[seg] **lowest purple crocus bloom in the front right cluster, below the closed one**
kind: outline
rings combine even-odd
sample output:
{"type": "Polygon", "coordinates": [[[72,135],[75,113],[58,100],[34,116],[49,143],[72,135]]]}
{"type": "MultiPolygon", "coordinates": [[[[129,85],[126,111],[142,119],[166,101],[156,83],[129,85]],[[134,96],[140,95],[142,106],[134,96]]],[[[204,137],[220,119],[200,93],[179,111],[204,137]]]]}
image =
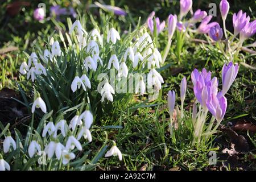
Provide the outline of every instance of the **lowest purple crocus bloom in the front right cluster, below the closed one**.
{"type": "Polygon", "coordinates": [[[207,101],[207,108],[218,123],[224,118],[227,106],[228,103],[225,96],[218,98],[216,94],[211,94],[209,101],[207,101]]]}

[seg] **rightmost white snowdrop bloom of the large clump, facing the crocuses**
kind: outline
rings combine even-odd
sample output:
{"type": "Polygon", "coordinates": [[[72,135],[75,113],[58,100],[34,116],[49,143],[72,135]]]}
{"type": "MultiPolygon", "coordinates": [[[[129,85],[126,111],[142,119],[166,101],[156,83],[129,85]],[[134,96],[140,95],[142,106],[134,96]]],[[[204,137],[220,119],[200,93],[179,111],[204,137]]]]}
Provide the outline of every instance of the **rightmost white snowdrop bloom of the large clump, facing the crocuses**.
{"type": "Polygon", "coordinates": [[[152,88],[152,86],[155,85],[156,90],[160,90],[163,82],[163,77],[155,70],[155,68],[151,69],[147,75],[148,88],[152,88]]]}

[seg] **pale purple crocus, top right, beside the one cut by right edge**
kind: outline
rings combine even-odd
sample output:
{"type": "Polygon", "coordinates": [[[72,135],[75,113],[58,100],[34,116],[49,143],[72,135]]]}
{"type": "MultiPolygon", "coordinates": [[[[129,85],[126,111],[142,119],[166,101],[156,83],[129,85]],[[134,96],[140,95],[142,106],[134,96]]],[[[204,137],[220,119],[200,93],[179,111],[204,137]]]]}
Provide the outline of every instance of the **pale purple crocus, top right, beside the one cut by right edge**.
{"type": "Polygon", "coordinates": [[[234,27],[234,36],[239,34],[239,32],[250,22],[250,16],[246,17],[246,13],[243,13],[242,10],[238,14],[233,15],[233,27],[234,27]]]}

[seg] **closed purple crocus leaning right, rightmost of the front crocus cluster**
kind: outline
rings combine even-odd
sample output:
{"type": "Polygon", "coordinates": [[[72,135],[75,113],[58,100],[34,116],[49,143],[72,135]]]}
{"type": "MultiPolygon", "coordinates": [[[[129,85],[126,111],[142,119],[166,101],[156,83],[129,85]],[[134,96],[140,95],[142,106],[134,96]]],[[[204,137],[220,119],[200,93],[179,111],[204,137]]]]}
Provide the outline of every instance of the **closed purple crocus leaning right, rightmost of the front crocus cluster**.
{"type": "Polygon", "coordinates": [[[222,68],[222,96],[225,96],[233,84],[234,79],[237,77],[238,68],[238,64],[233,64],[232,62],[228,65],[224,64],[222,68]]]}

